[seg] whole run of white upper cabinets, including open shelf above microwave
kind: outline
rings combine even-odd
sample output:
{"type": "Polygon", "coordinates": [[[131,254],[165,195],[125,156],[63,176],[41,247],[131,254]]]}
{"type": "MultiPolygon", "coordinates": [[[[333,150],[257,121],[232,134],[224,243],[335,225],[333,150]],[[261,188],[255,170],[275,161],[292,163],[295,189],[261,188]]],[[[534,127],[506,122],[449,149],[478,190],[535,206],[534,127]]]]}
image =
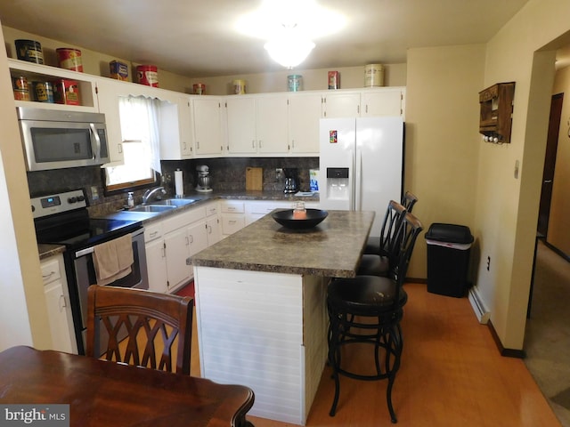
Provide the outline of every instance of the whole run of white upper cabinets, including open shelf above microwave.
{"type": "Polygon", "coordinates": [[[316,157],[322,117],[402,116],[405,119],[405,87],[199,96],[23,60],[9,59],[8,64],[12,77],[27,77],[28,82],[61,78],[77,81],[80,105],[14,102],[16,106],[105,114],[110,163],[104,166],[124,162],[118,114],[121,97],[145,96],[162,101],[160,157],[164,160],[316,157]]]}

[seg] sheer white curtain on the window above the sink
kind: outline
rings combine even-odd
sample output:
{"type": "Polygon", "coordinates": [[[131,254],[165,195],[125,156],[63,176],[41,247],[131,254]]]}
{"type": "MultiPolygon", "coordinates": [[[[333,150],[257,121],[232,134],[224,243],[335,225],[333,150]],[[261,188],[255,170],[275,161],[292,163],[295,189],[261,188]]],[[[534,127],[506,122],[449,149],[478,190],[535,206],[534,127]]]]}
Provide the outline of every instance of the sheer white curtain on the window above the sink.
{"type": "Polygon", "coordinates": [[[119,98],[119,114],[123,142],[142,141],[149,167],[162,173],[160,167],[160,101],[142,96],[119,98]]]}

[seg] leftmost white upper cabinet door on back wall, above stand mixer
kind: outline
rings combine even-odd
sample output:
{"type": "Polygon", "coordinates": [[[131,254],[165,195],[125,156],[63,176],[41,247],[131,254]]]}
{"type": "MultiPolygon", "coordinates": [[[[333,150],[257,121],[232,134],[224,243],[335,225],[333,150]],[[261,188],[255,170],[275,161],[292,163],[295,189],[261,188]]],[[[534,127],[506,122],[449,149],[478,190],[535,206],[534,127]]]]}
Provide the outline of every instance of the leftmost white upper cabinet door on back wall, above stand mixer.
{"type": "Polygon", "coordinates": [[[212,157],[222,154],[224,149],[222,100],[216,96],[192,98],[195,157],[212,157]]]}

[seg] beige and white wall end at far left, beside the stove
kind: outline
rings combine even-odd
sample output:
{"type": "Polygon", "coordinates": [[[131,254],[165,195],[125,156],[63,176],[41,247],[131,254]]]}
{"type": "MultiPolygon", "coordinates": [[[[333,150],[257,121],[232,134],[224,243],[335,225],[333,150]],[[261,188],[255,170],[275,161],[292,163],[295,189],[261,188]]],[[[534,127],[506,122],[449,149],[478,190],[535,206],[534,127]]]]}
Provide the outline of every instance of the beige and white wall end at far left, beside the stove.
{"type": "Polygon", "coordinates": [[[52,336],[4,51],[0,52],[0,100],[0,197],[4,200],[0,209],[0,350],[21,344],[46,349],[52,345],[52,336]]]}

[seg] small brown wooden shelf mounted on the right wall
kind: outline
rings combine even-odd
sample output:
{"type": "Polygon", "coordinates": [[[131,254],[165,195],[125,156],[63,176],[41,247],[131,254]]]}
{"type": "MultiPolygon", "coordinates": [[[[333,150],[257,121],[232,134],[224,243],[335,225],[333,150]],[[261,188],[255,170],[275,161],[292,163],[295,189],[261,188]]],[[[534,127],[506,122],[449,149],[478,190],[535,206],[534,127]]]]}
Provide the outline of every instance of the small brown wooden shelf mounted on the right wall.
{"type": "Polygon", "coordinates": [[[479,93],[479,133],[485,135],[485,141],[510,142],[514,97],[515,82],[497,83],[479,93]]]}

